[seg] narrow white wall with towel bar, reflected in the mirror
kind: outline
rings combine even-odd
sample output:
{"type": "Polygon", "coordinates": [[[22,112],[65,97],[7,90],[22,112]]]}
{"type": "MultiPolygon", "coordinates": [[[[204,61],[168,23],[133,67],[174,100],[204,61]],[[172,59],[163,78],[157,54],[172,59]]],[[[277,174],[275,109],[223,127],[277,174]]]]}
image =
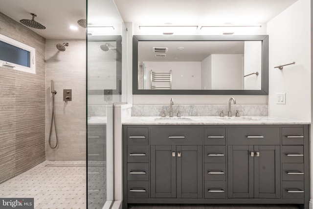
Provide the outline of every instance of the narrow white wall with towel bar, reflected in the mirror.
{"type": "Polygon", "coordinates": [[[244,75],[258,72],[245,77],[244,89],[259,90],[262,88],[262,42],[245,42],[244,75]]]}

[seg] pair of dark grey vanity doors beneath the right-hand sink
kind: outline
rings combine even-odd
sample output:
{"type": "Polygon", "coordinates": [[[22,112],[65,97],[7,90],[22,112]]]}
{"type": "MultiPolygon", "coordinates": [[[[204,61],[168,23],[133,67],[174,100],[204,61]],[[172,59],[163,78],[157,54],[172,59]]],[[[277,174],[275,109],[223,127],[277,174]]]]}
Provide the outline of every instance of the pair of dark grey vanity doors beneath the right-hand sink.
{"type": "Polygon", "coordinates": [[[280,198],[280,146],[228,146],[228,198],[280,198]]]}

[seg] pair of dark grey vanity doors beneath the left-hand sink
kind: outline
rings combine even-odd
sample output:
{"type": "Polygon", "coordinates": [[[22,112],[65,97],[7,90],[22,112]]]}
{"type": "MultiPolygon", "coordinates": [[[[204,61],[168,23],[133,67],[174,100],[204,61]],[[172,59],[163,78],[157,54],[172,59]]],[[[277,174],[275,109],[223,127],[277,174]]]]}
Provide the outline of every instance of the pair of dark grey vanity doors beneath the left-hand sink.
{"type": "Polygon", "coordinates": [[[202,146],[151,146],[151,198],[202,198],[202,146]]]}

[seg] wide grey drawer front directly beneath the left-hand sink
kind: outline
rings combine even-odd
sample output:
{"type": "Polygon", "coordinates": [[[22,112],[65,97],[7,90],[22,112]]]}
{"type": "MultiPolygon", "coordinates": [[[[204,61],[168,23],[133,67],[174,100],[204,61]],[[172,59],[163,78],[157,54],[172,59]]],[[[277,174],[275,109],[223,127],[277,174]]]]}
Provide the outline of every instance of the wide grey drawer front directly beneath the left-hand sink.
{"type": "Polygon", "coordinates": [[[202,145],[202,128],[151,128],[151,145],[202,145]]]}

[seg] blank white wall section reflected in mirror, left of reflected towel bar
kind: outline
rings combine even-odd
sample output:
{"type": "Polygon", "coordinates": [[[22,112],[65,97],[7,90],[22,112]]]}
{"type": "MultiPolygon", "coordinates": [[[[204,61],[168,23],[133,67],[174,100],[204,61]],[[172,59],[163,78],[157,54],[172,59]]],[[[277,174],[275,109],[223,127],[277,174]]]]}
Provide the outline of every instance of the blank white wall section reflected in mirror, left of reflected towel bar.
{"type": "Polygon", "coordinates": [[[213,90],[243,89],[243,54],[212,54],[211,83],[213,90]]]}

